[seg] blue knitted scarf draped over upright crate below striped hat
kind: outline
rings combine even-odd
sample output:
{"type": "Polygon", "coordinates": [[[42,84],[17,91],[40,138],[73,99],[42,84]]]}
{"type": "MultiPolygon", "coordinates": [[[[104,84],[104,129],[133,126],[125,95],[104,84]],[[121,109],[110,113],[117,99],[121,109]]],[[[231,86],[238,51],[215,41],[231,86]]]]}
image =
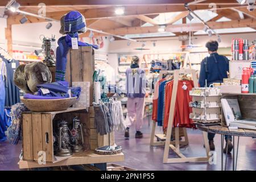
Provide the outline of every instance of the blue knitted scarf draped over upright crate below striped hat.
{"type": "MultiPolygon", "coordinates": [[[[71,38],[79,38],[78,33],[67,34],[58,40],[59,47],[56,49],[56,75],[55,81],[64,81],[67,67],[67,54],[69,48],[72,47],[71,38]]],[[[94,49],[98,49],[95,44],[88,44],[78,41],[79,46],[92,46],[94,49]]]]}

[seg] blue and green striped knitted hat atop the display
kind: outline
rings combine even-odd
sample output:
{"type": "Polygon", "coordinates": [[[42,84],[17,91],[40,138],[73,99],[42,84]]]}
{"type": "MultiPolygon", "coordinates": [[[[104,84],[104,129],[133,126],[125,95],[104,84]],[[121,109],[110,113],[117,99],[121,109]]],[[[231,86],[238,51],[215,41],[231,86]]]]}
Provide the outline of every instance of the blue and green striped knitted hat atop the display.
{"type": "Polygon", "coordinates": [[[79,11],[70,11],[64,17],[64,33],[86,32],[85,18],[79,11]]]}

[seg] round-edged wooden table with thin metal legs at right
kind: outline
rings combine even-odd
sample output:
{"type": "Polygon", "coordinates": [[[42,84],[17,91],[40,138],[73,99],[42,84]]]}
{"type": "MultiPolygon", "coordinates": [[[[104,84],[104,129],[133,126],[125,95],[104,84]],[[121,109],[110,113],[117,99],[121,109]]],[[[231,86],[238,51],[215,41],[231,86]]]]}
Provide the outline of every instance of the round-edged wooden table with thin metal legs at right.
{"type": "MultiPolygon", "coordinates": [[[[221,170],[222,171],[224,169],[224,167],[223,167],[224,135],[233,136],[233,171],[235,171],[237,169],[237,158],[238,158],[238,148],[239,148],[240,137],[256,137],[256,130],[246,130],[246,129],[229,130],[229,128],[225,127],[225,126],[200,126],[200,125],[197,125],[197,128],[201,131],[221,135],[221,170]],[[235,149],[234,137],[238,137],[236,149],[235,149]],[[236,152],[236,155],[235,155],[235,152],[236,152]],[[236,162],[235,162],[235,158],[236,158],[236,162]]],[[[228,152],[228,150],[227,150],[227,152],[228,152]]],[[[226,153],[226,154],[228,154],[228,153],[226,153]]],[[[228,156],[226,155],[225,171],[226,171],[227,159],[228,159],[228,156]]]]}

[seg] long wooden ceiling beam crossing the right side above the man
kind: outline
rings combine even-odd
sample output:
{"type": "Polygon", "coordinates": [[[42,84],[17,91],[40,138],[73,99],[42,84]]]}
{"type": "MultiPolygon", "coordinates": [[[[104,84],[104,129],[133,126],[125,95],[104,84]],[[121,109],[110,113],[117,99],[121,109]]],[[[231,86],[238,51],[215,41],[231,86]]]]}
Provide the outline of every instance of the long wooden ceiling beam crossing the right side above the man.
{"type": "MultiPolygon", "coordinates": [[[[240,28],[251,27],[256,28],[255,19],[243,19],[243,20],[231,20],[229,22],[208,22],[209,26],[213,29],[220,28],[240,28]]],[[[187,31],[199,31],[203,30],[203,23],[191,23],[191,24],[171,24],[166,27],[166,31],[169,32],[187,32],[187,31]]],[[[158,32],[158,26],[151,27],[123,27],[114,29],[102,30],[114,35],[127,35],[127,34],[146,34],[158,32]]]]}

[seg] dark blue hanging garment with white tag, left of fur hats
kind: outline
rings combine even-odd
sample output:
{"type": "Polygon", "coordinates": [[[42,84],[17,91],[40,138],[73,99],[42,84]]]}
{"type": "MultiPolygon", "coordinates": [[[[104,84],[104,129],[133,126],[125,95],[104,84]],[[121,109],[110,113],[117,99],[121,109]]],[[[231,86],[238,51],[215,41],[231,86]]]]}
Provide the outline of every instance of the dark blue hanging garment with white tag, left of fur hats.
{"type": "MultiPolygon", "coordinates": [[[[1,56],[0,56],[1,57],[1,56]]],[[[13,75],[15,68],[18,67],[19,61],[17,60],[6,60],[5,57],[2,57],[5,61],[7,69],[7,79],[6,79],[6,88],[5,88],[5,106],[11,107],[12,105],[20,102],[19,88],[14,85],[13,75]]]]}

